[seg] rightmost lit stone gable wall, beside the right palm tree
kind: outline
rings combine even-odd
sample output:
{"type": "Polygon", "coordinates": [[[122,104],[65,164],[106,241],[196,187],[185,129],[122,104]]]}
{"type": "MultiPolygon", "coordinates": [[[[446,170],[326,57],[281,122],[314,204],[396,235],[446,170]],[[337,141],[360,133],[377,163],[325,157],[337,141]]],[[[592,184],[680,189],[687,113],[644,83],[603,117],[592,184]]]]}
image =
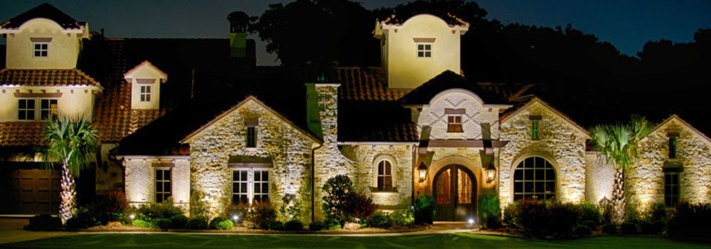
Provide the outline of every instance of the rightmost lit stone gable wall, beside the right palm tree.
{"type": "Polygon", "coordinates": [[[680,200],[690,203],[711,202],[711,146],[710,142],[693,131],[678,117],[663,122],[639,146],[639,165],[627,175],[631,203],[640,211],[651,203],[664,203],[664,172],[667,161],[681,164],[680,200]],[[668,132],[679,132],[677,159],[669,159],[668,132]]]}

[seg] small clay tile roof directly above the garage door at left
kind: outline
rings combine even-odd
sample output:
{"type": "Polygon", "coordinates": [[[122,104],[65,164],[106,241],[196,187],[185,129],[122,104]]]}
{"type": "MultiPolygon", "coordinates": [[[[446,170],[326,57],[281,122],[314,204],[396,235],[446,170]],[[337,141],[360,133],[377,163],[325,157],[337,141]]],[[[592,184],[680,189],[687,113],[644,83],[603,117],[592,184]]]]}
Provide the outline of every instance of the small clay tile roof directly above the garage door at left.
{"type": "Polygon", "coordinates": [[[44,122],[0,123],[0,147],[43,145],[44,122]]]}

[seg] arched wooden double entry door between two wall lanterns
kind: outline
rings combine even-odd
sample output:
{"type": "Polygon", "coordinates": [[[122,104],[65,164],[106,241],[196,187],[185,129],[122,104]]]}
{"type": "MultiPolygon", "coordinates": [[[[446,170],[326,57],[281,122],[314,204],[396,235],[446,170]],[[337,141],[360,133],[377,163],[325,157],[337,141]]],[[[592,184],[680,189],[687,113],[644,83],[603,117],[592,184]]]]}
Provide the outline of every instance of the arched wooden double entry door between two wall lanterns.
{"type": "Polygon", "coordinates": [[[450,164],[434,176],[437,221],[467,221],[476,216],[476,177],[465,166],[450,164]]]}

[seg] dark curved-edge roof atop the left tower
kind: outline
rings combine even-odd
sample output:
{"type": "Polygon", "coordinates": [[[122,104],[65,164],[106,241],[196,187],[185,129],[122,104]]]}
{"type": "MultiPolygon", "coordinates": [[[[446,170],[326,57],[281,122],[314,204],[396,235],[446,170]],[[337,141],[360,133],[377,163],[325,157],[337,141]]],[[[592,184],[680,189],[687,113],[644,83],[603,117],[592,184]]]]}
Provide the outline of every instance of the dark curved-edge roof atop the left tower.
{"type": "Polygon", "coordinates": [[[10,18],[10,20],[8,21],[4,21],[2,24],[0,24],[0,28],[19,28],[20,26],[22,26],[23,23],[33,18],[48,18],[58,23],[59,26],[62,26],[62,28],[64,29],[79,29],[82,28],[82,26],[84,26],[85,24],[83,22],[75,20],[71,16],[55,8],[55,6],[52,6],[52,4],[44,3],[26,11],[23,14],[19,14],[18,16],[10,18]]]}

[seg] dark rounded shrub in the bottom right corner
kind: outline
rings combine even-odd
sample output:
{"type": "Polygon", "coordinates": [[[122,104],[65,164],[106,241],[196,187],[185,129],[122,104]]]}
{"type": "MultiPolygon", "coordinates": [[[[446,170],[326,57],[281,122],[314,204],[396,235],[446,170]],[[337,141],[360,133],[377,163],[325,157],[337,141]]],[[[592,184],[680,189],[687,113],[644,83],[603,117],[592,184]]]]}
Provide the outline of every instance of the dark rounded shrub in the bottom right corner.
{"type": "Polygon", "coordinates": [[[707,238],[711,233],[711,204],[678,203],[667,233],[678,238],[707,238]]]}

